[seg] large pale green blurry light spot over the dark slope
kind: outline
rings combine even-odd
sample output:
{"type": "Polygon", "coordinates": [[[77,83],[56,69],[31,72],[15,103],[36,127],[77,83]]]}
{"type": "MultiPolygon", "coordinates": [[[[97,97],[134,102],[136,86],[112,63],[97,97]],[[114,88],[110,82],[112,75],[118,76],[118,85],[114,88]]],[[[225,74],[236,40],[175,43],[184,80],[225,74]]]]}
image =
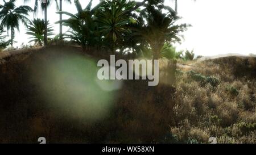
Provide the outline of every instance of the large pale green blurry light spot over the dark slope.
{"type": "Polygon", "coordinates": [[[96,62],[81,55],[68,54],[46,61],[43,70],[34,71],[40,73],[33,73],[37,75],[33,80],[42,89],[40,95],[49,107],[69,118],[88,121],[108,115],[117,95],[114,90],[121,87],[121,81],[98,80],[96,62]]]}

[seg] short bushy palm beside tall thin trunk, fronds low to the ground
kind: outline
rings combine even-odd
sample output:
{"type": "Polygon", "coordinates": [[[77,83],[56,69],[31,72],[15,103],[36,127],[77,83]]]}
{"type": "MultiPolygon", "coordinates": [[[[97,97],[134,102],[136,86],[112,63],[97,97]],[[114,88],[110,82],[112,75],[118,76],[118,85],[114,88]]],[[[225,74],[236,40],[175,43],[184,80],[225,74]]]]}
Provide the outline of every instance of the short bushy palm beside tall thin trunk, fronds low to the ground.
{"type": "MultiPolygon", "coordinates": [[[[53,29],[52,27],[49,27],[49,21],[47,22],[48,25],[48,30],[47,30],[47,35],[51,36],[53,35],[53,29]]],[[[27,35],[31,35],[32,37],[30,37],[30,41],[28,43],[31,42],[35,42],[38,43],[40,46],[42,46],[42,42],[44,39],[44,19],[34,19],[31,23],[31,25],[27,26],[28,30],[26,32],[27,35]]]]}

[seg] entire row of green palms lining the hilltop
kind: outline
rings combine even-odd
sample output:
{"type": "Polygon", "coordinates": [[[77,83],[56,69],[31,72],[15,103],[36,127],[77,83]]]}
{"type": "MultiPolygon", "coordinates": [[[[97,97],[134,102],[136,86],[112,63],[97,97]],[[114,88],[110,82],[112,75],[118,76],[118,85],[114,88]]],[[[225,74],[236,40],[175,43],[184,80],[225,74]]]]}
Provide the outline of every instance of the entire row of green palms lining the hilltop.
{"type": "MultiPolygon", "coordinates": [[[[24,0],[26,2],[28,0],[24,0]]],[[[15,30],[20,24],[27,27],[31,41],[38,45],[47,45],[53,35],[53,27],[47,20],[47,7],[56,5],[56,13],[60,20],[60,32],[55,39],[68,40],[80,45],[85,52],[106,51],[115,54],[134,53],[153,58],[179,57],[174,53],[172,45],[182,40],[181,32],[186,31],[189,24],[177,24],[180,16],[164,0],[144,0],[142,2],[126,0],[102,0],[92,7],[93,0],[87,6],[81,6],[79,0],[66,1],[66,5],[75,5],[76,14],[63,11],[63,2],[35,0],[34,9],[30,6],[16,6],[16,0],[5,1],[0,5],[0,47],[13,46],[15,30]],[[38,8],[42,7],[44,19],[36,19],[38,8]],[[34,11],[34,19],[28,14],[34,11]],[[63,19],[62,15],[68,15],[63,19]],[[62,27],[69,30],[63,33],[62,27]],[[11,33],[6,40],[6,32],[11,33]]]]}

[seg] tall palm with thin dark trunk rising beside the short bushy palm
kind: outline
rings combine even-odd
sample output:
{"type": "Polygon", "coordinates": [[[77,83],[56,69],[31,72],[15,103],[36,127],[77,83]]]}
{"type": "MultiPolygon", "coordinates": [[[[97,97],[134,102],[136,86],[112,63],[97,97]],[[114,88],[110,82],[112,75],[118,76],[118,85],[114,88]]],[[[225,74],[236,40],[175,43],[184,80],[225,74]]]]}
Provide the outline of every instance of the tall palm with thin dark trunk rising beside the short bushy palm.
{"type": "MultiPolygon", "coordinates": [[[[27,1],[30,1],[30,0],[24,0],[24,2],[27,2],[27,1]]],[[[54,1],[56,3],[56,9],[59,9],[57,0],[54,0],[54,1]]],[[[47,45],[47,41],[48,41],[48,39],[47,39],[48,38],[47,37],[47,30],[48,30],[48,28],[47,28],[47,21],[48,21],[47,20],[47,7],[49,5],[51,5],[51,2],[52,2],[52,0],[35,0],[35,5],[34,5],[34,16],[38,12],[39,3],[44,12],[44,27],[45,27],[44,30],[46,30],[46,31],[44,31],[44,45],[47,45]]]]}

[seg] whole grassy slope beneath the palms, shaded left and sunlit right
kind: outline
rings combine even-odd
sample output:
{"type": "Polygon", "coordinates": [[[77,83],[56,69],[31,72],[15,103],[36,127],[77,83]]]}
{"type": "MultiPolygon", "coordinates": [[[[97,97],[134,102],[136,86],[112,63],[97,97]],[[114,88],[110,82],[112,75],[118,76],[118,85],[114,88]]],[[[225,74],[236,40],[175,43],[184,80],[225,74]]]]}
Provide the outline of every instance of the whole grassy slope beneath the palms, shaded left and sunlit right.
{"type": "Polygon", "coordinates": [[[162,59],[158,86],[123,81],[116,90],[102,90],[86,82],[82,87],[90,89],[88,96],[70,83],[77,75],[90,79],[93,66],[84,59],[100,57],[78,49],[53,46],[5,58],[0,66],[2,143],[35,143],[42,135],[49,143],[208,143],[211,136],[218,143],[255,143],[255,58],[203,61],[190,72],[162,59]],[[62,61],[68,68],[61,67],[62,61]],[[49,78],[59,69],[57,78],[49,78]],[[114,95],[108,108],[103,100],[103,108],[92,107],[97,100],[88,98],[106,93],[114,95]],[[77,110],[81,100],[88,107],[77,110]],[[90,119],[99,114],[106,115],[90,119]]]}

